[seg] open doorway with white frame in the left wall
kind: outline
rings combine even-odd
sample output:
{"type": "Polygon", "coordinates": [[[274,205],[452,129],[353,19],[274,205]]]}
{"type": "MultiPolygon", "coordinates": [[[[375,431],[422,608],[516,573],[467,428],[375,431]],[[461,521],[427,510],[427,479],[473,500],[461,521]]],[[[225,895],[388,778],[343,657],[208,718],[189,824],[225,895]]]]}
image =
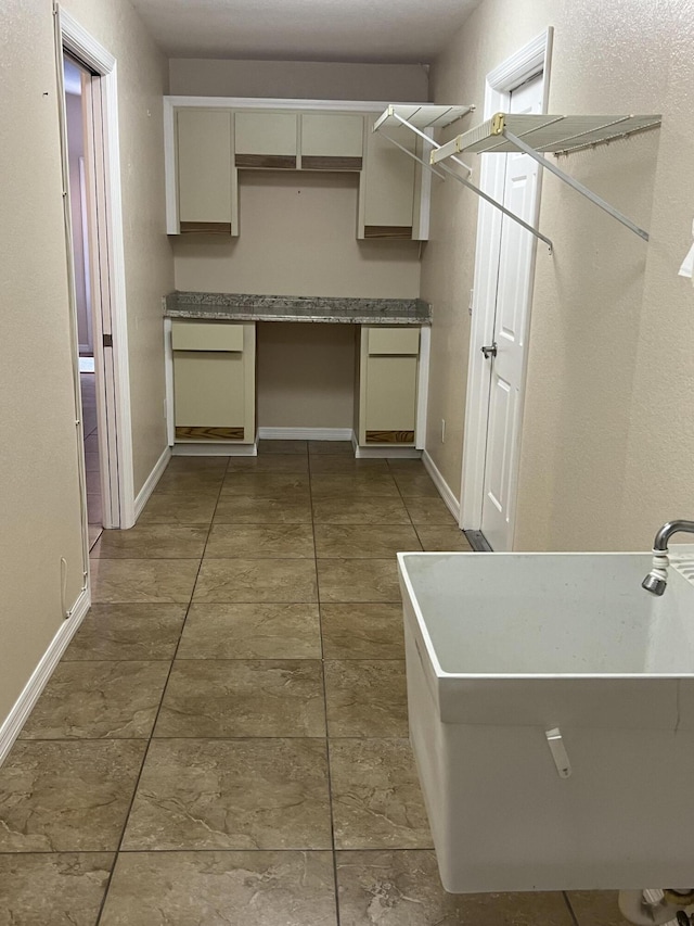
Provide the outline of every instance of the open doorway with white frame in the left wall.
{"type": "Polygon", "coordinates": [[[134,523],[116,61],[68,13],[54,10],[88,553],[103,528],[134,523]]]}

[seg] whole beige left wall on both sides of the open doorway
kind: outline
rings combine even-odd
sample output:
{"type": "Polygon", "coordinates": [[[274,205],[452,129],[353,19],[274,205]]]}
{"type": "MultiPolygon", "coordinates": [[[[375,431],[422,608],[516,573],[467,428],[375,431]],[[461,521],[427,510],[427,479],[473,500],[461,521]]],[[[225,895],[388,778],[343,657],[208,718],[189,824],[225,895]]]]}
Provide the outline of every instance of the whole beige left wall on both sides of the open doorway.
{"type": "MultiPolygon", "coordinates": [[[[166,62],[125,0],[66,5],[119,64],[139,487],[166,443],[159,305],[172,287],[162,178],[166,62]]],[[[62,625],[61,558],[67,561],[67,606],[82,585],[82,559],[50,3],[5,0],[0,33],[12,36],[3,48],[0,93],[1,722],[62,625]]]]}

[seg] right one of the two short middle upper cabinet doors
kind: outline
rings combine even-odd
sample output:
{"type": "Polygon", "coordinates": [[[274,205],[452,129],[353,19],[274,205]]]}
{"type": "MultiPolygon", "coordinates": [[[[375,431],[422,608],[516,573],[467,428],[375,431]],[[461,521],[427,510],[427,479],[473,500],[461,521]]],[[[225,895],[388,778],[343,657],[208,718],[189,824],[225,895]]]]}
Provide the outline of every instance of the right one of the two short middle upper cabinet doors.
{"type": "Polygon", "coordinates": [[[304,114],[301,169],[361,170],[363,138],[363,116],[304,114]]]}

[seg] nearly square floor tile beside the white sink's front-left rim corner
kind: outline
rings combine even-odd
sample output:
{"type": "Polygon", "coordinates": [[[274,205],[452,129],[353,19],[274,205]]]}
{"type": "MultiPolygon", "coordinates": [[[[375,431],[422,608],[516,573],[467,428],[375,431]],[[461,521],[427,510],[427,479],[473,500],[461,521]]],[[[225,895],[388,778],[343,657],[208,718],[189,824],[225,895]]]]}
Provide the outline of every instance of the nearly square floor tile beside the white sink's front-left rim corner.
{"type": "Polygon", "coordinates": [[[329,736],[408,736],[402,660],[329,659],[324,672],[329,736]]]}

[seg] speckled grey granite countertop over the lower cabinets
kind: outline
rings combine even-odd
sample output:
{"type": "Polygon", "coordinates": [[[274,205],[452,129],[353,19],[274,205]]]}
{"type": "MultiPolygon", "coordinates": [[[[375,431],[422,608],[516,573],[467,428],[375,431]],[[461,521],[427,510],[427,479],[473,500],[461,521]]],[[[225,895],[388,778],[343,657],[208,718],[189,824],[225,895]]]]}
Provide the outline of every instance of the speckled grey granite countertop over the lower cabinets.
{"type": "Polygon", "coordinates": [[[432,309],[421,299],[340,299],[244,293],[169,293],[169,318],[224,321],[329,321],[350,325],[430,325],[432,309]]]}

